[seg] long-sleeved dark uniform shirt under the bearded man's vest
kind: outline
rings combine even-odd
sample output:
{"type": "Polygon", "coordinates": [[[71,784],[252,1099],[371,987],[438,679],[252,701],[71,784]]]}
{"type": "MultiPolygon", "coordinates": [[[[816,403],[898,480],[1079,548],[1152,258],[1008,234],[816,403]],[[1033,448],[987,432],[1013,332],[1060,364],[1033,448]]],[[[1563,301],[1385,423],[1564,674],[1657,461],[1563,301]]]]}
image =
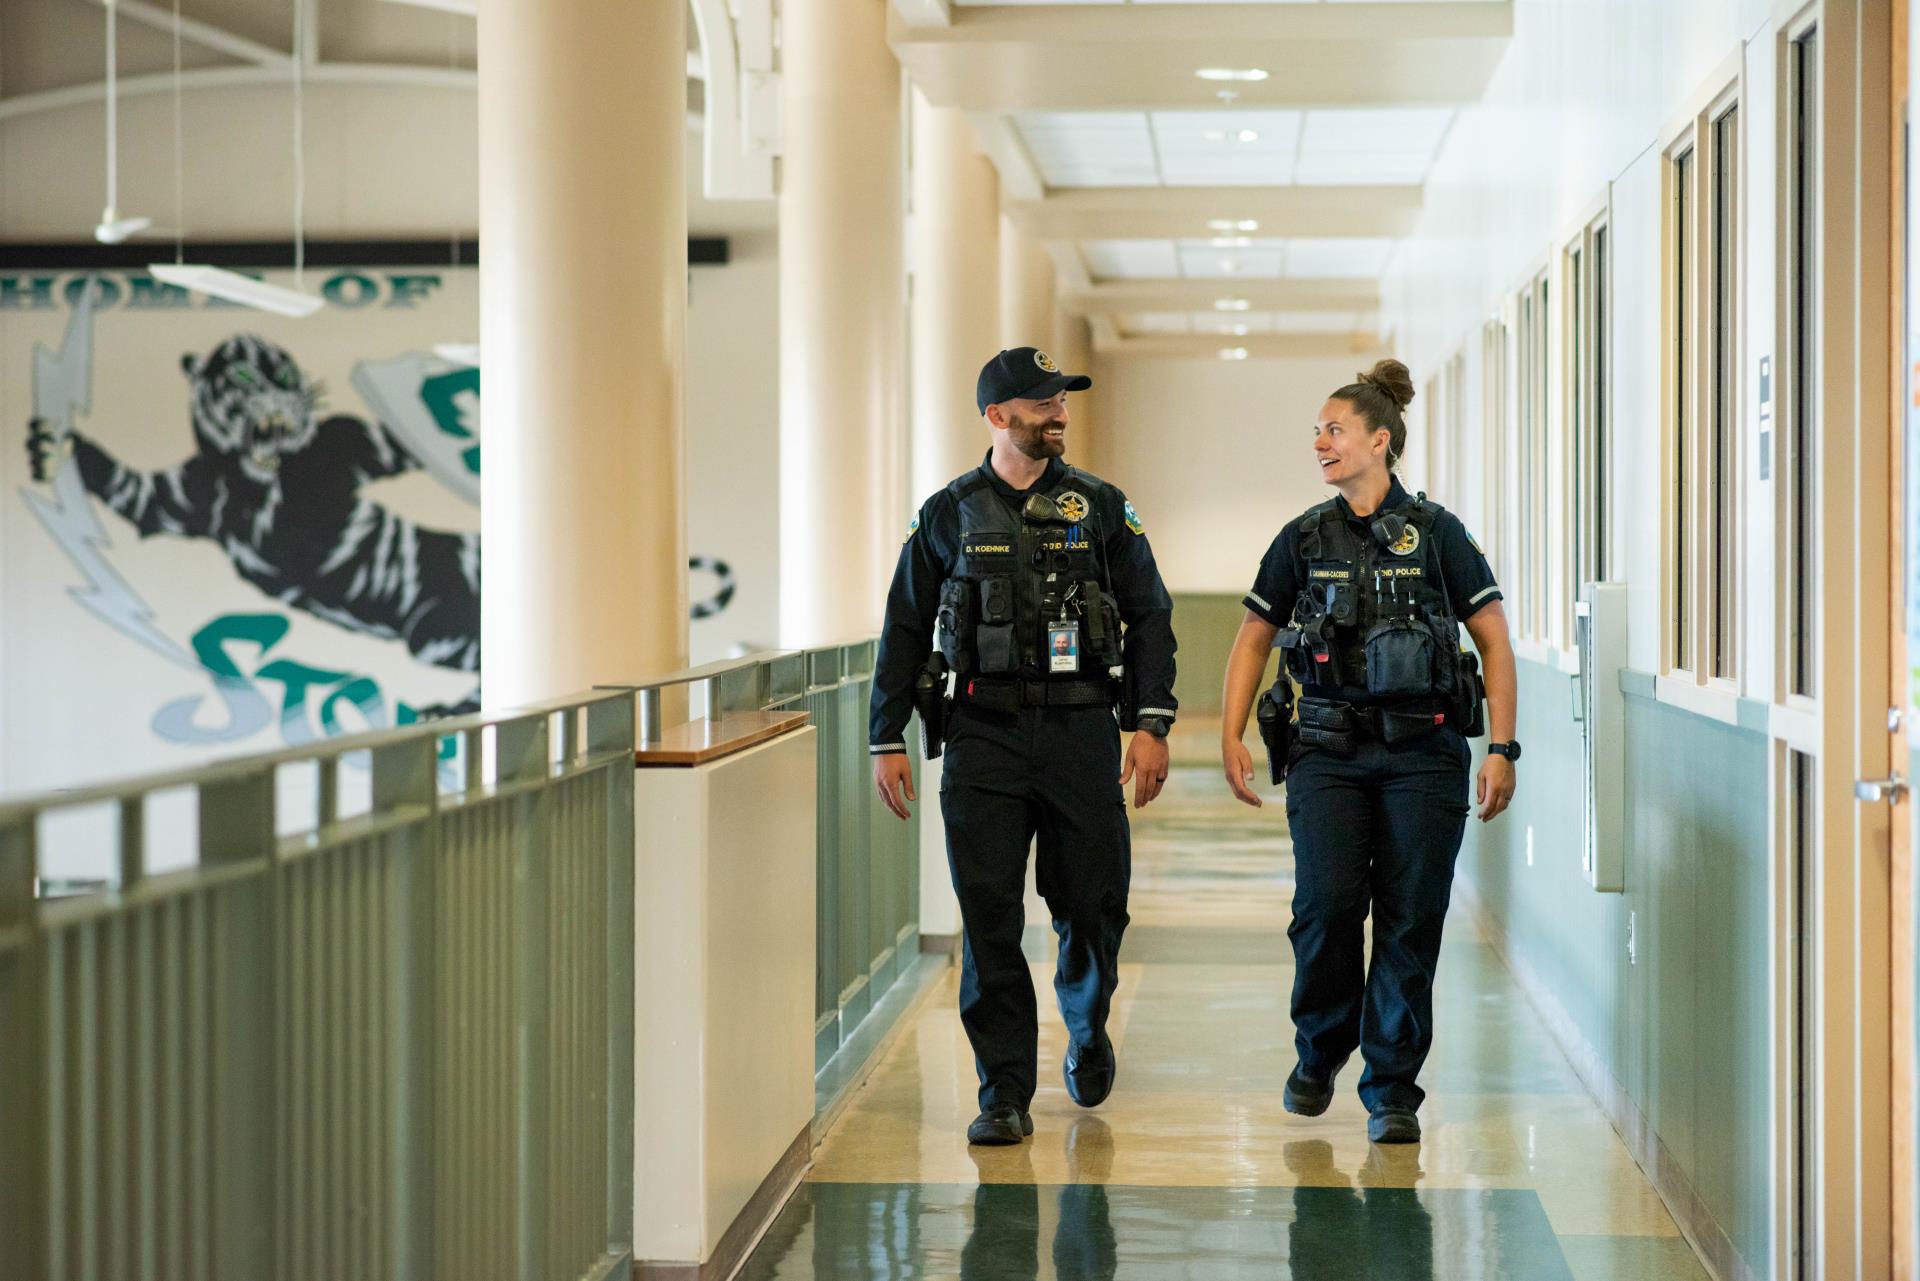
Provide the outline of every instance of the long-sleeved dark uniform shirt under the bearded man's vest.
{"type": "MultiPolygon", "coordinates": [[[[981,463],[993,492],[1012,511],[1020,511],[1027,494],[1052,492],[1060,484],[1066,463],[1048,459],[1046,471],[1031,490],[1016,490],[993,471],[993,453],[981,463]]],[[[1119,620],[1127,638],[1127,680],[1133,682],[1139,714],[1173,720],[1179,703],[1173,699],[1173,597],[1160,580],[1154,551],[1146,534],[1139,532],[1133,505],[1110,480],[1098,480],[1094,490],[1094,526],[1100,530],[1106,553],[1108,588],[1119,605],[1119,620]],[[1131,522],[1129,522],[1131,520],[1131,522]]],[[[960,503],[952,490],[941,488],[920,505],[900,561],[893,570],[893,590],[887,592],[887,616],[881,622],[879,655],[874,659],[874,697],[868,707],[868,751],[874,755],[906,751],[906,722],[914,711],[914,676],[933,653],[933,618],[941,605],[941,584],[954,561],[960,542],[960,503]]]]}

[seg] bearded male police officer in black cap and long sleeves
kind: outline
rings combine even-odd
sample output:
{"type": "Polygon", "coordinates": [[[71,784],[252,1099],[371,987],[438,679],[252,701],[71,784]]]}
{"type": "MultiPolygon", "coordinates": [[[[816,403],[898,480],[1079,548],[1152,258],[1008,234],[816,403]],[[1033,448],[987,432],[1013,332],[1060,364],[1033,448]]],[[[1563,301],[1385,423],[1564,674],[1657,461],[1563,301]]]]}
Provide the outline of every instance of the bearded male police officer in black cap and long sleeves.
{"type": "Polygon", "coordinates": [[[975,405],[993,449],[920,507],[874,672],[874,784],[900,818],[918,799],[904,741],[916,678],[922,718],[937,720],[945,701],[927,691],[954,672],[941,814],[966,930],[960,1022],[979,1072],[968,1143],[1033,1133],[1039,1035],[1020,933],[1035,835],[1035,878],[1060,935],[1066,1087],[1087,1108],[1114,1087],[1106,1016],[1133,862],[1125,786],[1140,807],[1167,778],[1173,601],[1133,503],[1060,461],[1066,394],[1089,386],[1033,348],[1000,351],[979,371],[975,405]],[[1116,699],[1121,728],[1137,730],[1125,766],[1116,699]]]}

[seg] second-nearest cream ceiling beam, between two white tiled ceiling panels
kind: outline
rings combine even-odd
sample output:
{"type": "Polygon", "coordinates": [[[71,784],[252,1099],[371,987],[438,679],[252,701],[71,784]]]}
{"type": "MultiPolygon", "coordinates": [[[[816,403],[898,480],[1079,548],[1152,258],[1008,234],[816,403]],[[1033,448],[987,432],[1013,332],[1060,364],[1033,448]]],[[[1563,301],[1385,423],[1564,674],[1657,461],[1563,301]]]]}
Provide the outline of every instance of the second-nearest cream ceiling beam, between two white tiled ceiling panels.
{"type": "MultiPolygon", "coordinates": [[[[1371,8],[1371,6],[1369,6],[1371,8]]],[[[1196,240],[1213,219],[1252,219],[1260,238],[1398,238],[1413,230],[1419,186],[1081,186],[1006,202],[1037,240],[1196,240]]]]}

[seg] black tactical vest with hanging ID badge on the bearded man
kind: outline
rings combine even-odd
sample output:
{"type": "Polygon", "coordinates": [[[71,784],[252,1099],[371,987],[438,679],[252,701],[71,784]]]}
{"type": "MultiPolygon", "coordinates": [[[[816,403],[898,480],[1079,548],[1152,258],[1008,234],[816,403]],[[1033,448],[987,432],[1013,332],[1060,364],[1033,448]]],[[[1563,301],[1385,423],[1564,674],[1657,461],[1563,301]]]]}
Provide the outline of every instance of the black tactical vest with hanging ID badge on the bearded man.
{"type": "Polygon", "coordinates": [[[952,670],[1104,680],[1119,666],[1119,603],[1094,511],[1102,488],[1068,467],[1016,511],[981,471],[947,486],[960,507],[939,609],[939,647],[952,670]]]}

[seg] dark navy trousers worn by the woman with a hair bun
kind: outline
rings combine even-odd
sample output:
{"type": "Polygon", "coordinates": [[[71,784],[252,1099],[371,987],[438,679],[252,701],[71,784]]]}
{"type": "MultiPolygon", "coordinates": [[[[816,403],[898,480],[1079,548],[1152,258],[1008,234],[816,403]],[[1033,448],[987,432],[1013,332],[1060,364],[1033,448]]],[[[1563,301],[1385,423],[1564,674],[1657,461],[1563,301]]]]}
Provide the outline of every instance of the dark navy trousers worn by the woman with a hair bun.
{"type": "Polygon", "coordinates": [[[1352,757],[1296,747],[1286,772],[1294,837],[1294,1047],[1325,1077],[1357,1047],[1359,1097],[1419,1108],[1434,1039],[1434,970],[1467,828],[1467,739],[1363,737],[1352,757]],[[1365,922],[1373,910],[1373,964],[1365,922]]]}

